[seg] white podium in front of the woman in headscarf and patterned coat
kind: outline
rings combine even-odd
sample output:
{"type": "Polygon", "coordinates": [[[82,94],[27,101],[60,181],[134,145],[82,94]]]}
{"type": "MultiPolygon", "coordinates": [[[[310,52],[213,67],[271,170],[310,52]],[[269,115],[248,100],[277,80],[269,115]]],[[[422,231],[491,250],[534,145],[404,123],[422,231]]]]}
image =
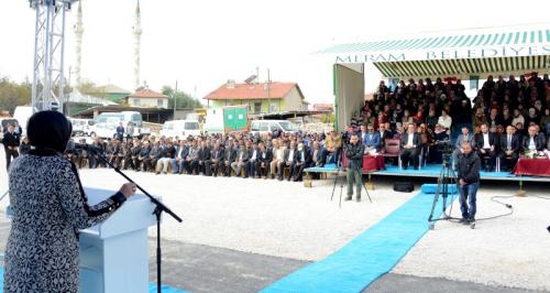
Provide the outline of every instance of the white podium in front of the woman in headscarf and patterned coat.
{"type": "MultiPolygon", "coordinates": [[[[90,205],[113,194],[86,188],[90,205]]],[[[156,225],[154,208],[148,197],[136,194],[105,223],[80,231],[79,292],[148,292],[147,227],[156,225]]]]}

